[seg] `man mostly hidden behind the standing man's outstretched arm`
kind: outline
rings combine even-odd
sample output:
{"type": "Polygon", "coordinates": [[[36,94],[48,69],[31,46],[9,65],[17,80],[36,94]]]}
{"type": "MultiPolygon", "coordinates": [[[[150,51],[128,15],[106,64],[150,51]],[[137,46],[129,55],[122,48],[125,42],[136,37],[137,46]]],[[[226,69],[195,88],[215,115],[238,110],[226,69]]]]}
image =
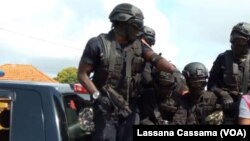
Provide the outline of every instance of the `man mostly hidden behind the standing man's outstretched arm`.
{"type": "MultiPolygon", "coordinates": [[[[144,26],[142,40],[144,40],[147,46],[152,48],[155,44],[154,29],[144,26]]],[[[139,84],[140,98],[138,100],[138,106],[140,111],[140,124],[142,125],[154,125],[156,123],[154,113],[157,110],[157,103],[152,77],[153,67],[151,63],[146,63],[139,84]]]]}

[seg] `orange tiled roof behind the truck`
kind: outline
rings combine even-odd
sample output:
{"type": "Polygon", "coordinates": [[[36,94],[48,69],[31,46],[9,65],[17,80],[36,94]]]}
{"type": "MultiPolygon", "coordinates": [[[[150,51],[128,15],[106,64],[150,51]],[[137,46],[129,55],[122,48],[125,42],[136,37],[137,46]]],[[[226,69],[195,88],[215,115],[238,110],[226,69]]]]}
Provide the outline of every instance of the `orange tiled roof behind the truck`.
{"type": "Polygon", "coordinates": [[[0,66],[0,70],[4,71],[5,74],[3,77],[0,77],[0,80],[58,83],[56,80],[29,64],[5,64],[0,66]]]}

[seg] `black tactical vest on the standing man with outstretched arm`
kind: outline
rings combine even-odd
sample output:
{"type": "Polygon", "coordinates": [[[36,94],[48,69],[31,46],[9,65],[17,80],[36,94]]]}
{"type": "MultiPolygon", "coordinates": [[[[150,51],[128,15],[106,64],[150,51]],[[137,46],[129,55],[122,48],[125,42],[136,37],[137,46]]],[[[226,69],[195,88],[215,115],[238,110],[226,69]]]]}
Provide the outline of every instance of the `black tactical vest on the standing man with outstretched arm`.
{"type": "MultiPolygon", "coordinates": [[[[139,40],[122,48],[112,32],[97,37],[101,47],[101,61],[95,68],[93,82],[98,89],[109,84],[119,94],[132,98],[136,95],[139,77],[145,63],[142,58],[142,45],[139,40]]],[[[125,97],[126,98],[126,97],[125,97]]]]}

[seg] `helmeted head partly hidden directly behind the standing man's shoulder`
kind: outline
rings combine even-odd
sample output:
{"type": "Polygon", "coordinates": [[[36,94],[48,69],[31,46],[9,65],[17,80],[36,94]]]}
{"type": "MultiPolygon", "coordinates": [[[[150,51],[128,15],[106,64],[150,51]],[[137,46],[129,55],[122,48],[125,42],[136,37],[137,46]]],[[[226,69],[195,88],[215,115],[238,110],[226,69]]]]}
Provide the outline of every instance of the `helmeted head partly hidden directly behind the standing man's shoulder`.
{"type": "Polygon", "coordinates": [[[144,26],[143,28],[144,39],[152,46],[155,44],[155,31],[154,29],[144,26]]]}

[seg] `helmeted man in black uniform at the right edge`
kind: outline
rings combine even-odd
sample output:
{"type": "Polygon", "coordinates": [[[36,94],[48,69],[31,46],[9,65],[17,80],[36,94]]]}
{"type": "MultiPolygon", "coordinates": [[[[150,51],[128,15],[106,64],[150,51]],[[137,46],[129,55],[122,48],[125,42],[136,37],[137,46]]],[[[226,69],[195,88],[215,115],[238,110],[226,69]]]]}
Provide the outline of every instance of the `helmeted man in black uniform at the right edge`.
{"type": "Polygon", "coordinates": [[[223,103],[224,124],[236,124],[241,95],[249,90],[250,24],[240,22],[231,32],[231,50],[218,55],[208,79],[208,89],[223,103]]]}

